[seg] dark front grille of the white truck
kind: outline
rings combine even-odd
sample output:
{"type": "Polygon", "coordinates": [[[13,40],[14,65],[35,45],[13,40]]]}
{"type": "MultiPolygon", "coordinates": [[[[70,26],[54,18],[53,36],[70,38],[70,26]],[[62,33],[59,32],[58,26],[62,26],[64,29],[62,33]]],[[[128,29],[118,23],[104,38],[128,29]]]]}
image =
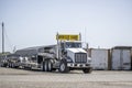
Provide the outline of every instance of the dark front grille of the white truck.
{"type": "Polygon", "coordinates": [[[75,63],[87,63],[87,54],[86,53],[76,53],[75,54],[75,63]]]}

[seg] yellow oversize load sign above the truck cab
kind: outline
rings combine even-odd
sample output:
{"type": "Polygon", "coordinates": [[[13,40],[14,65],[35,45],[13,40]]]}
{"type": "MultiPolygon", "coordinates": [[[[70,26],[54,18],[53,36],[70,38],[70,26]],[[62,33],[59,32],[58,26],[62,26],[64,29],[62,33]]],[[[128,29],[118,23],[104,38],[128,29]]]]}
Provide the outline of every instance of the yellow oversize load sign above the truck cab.
{"type": "Polygon", "coordinates": [[[56,35],[56,40],[65,40],[65,41],[78,41],[79,40],[79,35],[56,35]]]}

